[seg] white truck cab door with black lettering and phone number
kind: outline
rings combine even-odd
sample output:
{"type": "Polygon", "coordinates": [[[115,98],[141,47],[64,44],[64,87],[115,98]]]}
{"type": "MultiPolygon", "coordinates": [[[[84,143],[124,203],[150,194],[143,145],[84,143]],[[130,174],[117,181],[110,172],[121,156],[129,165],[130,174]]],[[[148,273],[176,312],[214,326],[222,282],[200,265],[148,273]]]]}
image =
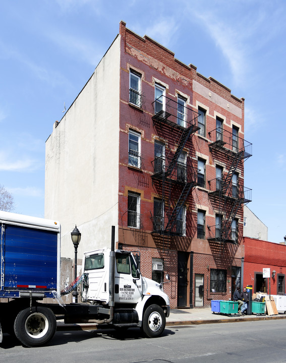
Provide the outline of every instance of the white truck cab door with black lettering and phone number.
{"type": "Polygon", "coordinates": [[[133,256],[128,252],[116,253],[115,302],[137,304],[142,296],[142,276],[133,256]]]}

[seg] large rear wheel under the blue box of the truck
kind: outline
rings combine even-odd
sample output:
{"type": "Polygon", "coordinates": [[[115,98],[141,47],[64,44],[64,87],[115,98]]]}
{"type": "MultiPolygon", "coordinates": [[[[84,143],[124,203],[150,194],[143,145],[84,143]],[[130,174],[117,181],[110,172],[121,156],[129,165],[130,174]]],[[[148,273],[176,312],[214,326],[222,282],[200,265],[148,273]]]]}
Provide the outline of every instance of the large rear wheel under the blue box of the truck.
{"type": "Polygon", "coordinates": [[[52,339],[56,330],[56,319],[48,308],[27,308],[17,315],[14,331],[20,342],[27,347],[44,345],[52,339]]]}

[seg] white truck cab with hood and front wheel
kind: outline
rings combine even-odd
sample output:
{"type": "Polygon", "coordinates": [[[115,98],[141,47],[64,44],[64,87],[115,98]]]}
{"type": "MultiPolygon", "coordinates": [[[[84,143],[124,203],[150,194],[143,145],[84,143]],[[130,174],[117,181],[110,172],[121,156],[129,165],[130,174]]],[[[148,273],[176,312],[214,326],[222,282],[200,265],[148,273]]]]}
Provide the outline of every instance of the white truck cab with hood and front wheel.
{"type": "Polygon", "coordinates": [[[110,284],[114,283],[115,311],[131,314],[124,324],[121,317],[113,325],[140,326],[149,337],[158,336],[164,330],[165,318],[169,316],[169,298],[163,285],[141,275],[138,262],[129,251],[115,251],[114,282],[110,279],[110,249],[86,252],[83,256],[82,297],[92,304],[110,305],[110,284]],[[151,307],[151,308],[150,308],[151,307]],[[132,313],[131,313],[132,312],[132,313]],[[147,313],[146,313],[147,312],[147,313]],[[146,315],[147,314],[147,315],[146,315]],[[134,322],[137,323],[134,324],[134,322]],[[132,324],[129,324],[131,323],[132,324]]]}

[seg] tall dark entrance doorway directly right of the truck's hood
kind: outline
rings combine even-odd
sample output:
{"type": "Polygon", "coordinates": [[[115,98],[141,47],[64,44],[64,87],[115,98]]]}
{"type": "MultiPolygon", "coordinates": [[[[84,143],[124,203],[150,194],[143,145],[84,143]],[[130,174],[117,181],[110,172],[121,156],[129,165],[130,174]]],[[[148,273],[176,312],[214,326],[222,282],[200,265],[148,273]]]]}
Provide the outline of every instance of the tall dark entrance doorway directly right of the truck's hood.
{"type": "Polygon", "coordinates": [[[178,307],[187,306],[189,256],[187,252],[178,251],[178,307]]]}

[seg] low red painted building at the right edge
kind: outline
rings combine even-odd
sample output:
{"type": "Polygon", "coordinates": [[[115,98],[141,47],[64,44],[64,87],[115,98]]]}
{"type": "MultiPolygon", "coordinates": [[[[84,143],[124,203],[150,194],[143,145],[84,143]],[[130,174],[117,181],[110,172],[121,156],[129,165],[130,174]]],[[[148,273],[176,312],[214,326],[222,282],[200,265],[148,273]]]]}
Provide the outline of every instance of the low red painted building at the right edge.
{"type": "Polygon", "coordinates": [[[244,237],[243,284],[252,285],[253,292],[269,294],[269,278],[263,277],[263,269],[270,269],[270,292],[285,293],[286,246],[260,239],[244,237]],[[275,271],[275,273],[273,273],[275,271]]]}

